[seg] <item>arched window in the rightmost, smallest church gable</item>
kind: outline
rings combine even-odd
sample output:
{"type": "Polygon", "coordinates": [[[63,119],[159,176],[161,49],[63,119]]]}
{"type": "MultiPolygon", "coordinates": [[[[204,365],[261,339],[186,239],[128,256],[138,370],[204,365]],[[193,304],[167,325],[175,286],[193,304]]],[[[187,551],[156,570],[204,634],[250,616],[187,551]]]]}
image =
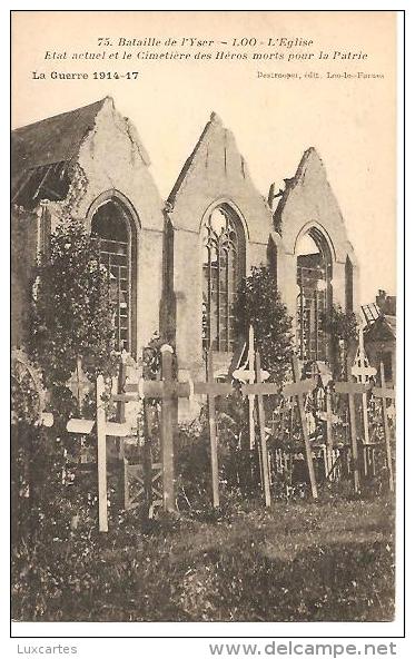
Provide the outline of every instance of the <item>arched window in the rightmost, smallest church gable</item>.
{"type": "Polygon", "coordinates": [[[302,360],[329,358],[325,316],[332,307],[332,257],[323,234],[312,228],[297,248],[297,345],[302,360]]]}

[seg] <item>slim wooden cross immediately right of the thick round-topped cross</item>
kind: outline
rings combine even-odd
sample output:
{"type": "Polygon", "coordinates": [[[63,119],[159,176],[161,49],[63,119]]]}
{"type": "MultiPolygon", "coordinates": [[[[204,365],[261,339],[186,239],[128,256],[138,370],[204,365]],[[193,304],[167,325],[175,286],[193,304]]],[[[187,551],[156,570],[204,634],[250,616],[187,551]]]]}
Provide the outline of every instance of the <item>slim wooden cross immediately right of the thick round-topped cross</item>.
{"type": "Polygon", "coordinates": [[[214,373],[214,356],[209,351],[207,355],[207,382],[192,383],[195,394],[206,395],[208,400],[209,414],[209,440],[210,440],[210,466],[214,508],[219,505],[219,466],[218,466],[218,440],[216,432],[216,396],[227,396],[233,393],[230,382],[216,382],[214,373]]]}

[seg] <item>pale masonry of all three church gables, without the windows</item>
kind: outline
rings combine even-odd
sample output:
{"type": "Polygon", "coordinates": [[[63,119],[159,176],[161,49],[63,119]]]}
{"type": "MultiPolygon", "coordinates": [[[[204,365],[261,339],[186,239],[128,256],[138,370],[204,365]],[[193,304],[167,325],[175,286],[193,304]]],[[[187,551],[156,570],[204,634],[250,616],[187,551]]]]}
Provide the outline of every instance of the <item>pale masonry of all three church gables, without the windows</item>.
{"type": "MultiPolygon", "coordinates": [[[[345,307],[346,299],[353,297],[355,312],[359,309],[356,258],[315,149],[306,151],[279,200],[276,224],[281,235],[274,230],[271,210],[254,186],[233,134],[216,115],[207,124],[166,205],[149,166],[134,126],[108,98],[71,161],[67,197],[62,201],[47,203],[52,229],[66,217],[79,218],[90,228],[95,210],[113,196],[131,208],[137,225],[138,354],[160,330],[162,336],[175,344],[179,377],[205,377],[200,230],[213,209],[223,204],[233,209],[245,233],[245,274],[249,274],[254,265],[270,263],[271,249],[271,266],[276,269],[281,299],[294,322],[298,293],[296,246],[312,226],[322,232],[329,246],[334,303],[345,307]],[[350,279],[353,296],[346,295],[350,279]]],[[[18,256],[13,259],[12,326],[17,345],[23,336],[31,268],[37,249],[41,248],[36,213],[24,212],[23,215],[26,224],[20,217],[14,230],[18,256]]],[[[192,407],[180,401],[180,409],[184,406],[181,417],[191,416],[197,409],[197,404],[192,407]]]]}

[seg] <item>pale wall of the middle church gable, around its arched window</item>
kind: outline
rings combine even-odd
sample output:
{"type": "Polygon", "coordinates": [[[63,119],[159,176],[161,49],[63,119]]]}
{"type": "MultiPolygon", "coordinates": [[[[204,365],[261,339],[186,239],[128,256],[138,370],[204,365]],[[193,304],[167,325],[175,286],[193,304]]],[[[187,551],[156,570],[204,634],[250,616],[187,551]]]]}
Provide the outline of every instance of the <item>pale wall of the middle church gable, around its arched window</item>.
{"type": "MultiPolygon", "coordinates": [[[[200,230],[211,210],[227,204],[239,217],[246,240],[246,273],[267,263],[271,213],[255,189],[234,136],[213,116],[168,210],[174,232],[176,350],[182,377],[205,377],[201,345],[202,260],[200,230]]],[[[186,403],[180,403],[182,409],[186,403]]],[[[181,416],[186,412],[181,410],[181,416]]]]}

